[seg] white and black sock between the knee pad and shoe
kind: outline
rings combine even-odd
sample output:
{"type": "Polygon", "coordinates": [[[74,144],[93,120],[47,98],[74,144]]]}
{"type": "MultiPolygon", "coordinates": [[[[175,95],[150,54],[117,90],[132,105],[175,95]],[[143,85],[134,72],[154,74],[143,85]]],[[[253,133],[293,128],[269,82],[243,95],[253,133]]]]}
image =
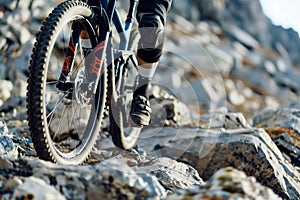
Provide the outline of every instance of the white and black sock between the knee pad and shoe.
{"type": "MultiPolygon", "coordinates": [[[[147,64],[148,65],[148,64],[147,64]]],[[[143,95],[148,98],[148,87],[149,84],[154,76],[155,70],[157,68],[157,63],[151,63],[149,65],[152,65],[151,68],[145,68],[142,66],[138,67],[139,71],[139,83],[136,88],[136,90],[133,93],[133,98],[135,98],[137,95],[143,95]]]]}

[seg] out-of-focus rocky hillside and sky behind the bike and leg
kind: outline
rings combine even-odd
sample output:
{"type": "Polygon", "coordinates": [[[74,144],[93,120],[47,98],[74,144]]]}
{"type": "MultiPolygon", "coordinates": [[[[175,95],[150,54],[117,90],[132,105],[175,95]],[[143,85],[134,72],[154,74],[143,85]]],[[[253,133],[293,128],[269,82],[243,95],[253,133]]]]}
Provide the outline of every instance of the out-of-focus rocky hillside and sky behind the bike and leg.
{"type": "MultiPolygon", "coordinates": [[[[2,117],[26,117],[27,67],[35,35],[59,2],[0,1],[2,117]]],[[[118,1],[123,15],[127,4],[118,1]]],[[[300,39],[294,30],[299,24],[293,23],[299,19],[298,4],[173,0],[165,55],[154,80],[188,106],[197,106],[195,114],[225,108],[251,120],[261,109],[299,107],[300,39]]]]}

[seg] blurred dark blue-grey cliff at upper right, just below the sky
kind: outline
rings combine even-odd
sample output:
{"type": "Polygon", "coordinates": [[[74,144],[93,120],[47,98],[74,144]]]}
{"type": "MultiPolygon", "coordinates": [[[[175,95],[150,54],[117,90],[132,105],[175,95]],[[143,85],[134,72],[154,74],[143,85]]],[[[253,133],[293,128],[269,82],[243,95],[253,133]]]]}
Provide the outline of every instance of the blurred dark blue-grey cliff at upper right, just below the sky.
{"type": "Polygon", "coordinates": [[[259,41],[262,46],[274,49],[278,52],[276,44],[281,43],[289,52],[293,63],[299,65],[298,34],[292,29],[284,29],[275,26],[262,10],[260,2],[254,1],[231,1],[231,0],[199,0],[197,7],[201,17],[216,21],[226,32],[234,38],[242,41],[250,48],[258,47],[259,41]],[[240,12],[240,10],[243,12],[240,12]],[[236,28],[239,27],[238,31],[236,28]],[[294,42],[290,42],[293,40],[294,42]]]}

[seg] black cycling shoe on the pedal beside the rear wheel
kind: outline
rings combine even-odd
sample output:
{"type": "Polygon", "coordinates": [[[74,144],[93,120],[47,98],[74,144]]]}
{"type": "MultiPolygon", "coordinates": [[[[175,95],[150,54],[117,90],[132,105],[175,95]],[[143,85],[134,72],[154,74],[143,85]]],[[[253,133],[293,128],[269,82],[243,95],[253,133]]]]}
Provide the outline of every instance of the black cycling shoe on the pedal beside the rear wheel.
{"type": "Polygon", "coordinates": [[[148,126],[151,120],[149,100],[143,95],[137,95],[131,104],[130,116],[137,126],[148,126]]]}

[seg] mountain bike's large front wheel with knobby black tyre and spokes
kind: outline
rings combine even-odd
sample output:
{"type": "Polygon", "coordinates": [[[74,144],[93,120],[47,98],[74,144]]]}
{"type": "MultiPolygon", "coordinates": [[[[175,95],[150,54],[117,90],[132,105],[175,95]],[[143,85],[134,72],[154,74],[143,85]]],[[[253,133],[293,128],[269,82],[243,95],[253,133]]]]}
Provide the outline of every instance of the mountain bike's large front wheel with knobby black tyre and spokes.
{"type": "Polygon", "coordinates": [[[90,18],[94,14],[84,2],[66,1],[52,11],[37,36],[29,66],[27,110],[41,159],[81,164],[98,138],[107,72],[100,67],[98,83],[88,82],[87,49],[83,48],[83,37],[91,49],[99,42],[94,37],[95,21],[90,18]],[[73,55],[66,56],[70,50],[73,55]],[[87,88],[93,84],[98,87],[91,94],[87,88]]]}

